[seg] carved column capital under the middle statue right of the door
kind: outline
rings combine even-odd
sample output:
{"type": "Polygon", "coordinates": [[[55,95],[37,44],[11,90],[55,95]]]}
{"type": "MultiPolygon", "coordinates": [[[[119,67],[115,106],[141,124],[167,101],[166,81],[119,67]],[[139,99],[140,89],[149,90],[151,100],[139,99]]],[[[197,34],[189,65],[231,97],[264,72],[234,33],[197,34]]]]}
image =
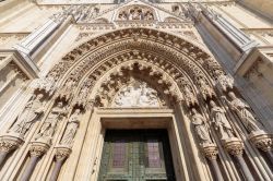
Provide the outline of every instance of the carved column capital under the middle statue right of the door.
{"type": "Polygon", "coordinates": [[[224,147],[233,156],[241,156],[244,153],[244,145],[237,137],[225,140],[224,147]]]}

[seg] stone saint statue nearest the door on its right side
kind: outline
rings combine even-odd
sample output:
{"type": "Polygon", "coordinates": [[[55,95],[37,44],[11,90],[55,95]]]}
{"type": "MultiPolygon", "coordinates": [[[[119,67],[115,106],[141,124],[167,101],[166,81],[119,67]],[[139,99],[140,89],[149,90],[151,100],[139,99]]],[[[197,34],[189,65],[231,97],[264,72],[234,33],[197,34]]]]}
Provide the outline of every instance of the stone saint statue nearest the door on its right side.
{"type": "Polygon", "coordinates": [[[212,143],[204,118],[194,108],[191,111],[191,123],[194,125],[195,133],[198,134],[201,144],[204,145],[212,143]]]}

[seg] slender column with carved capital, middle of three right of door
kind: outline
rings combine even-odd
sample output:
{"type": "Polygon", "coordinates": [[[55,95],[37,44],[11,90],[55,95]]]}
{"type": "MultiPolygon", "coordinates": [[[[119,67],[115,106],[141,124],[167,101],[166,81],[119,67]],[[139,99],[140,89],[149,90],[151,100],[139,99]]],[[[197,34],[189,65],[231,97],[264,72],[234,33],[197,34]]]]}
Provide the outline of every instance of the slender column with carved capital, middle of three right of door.
{"type": "Polygon", "coordinates": [[[236,158],[237,162],[240,165],[240,168],[244,172],[246,180],[254,181],[250,170],[248,169],[248,166],[246,165],[242,158],[244,146],[242,146],[241,141],[239,141],[236,137],[232,137],[232,138],[225,140],[224,142],[225,142],[224,143],[225,149],[236,158]]]}

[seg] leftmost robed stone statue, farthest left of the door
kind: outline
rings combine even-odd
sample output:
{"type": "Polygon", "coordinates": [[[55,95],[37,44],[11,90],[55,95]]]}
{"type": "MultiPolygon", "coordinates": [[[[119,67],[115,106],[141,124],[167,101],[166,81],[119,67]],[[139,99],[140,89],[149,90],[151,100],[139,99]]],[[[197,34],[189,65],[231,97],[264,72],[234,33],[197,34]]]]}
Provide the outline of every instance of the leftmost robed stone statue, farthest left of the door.
{"type": "Polygon", "coordinates": [[[23,112],[19,114],[15,125],[12,128],[13,132],[25,135],[31,126],[39,120],[45,111],[43,97],[43,94],[38,94],[37,97],[35,96],[26,104],[23,112]]]}

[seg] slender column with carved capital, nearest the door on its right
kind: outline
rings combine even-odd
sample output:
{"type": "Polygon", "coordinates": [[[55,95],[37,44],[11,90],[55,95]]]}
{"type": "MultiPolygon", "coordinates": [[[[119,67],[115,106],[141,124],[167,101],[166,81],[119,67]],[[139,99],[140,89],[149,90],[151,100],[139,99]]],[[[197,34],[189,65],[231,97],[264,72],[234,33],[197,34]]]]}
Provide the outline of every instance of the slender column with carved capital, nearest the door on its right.
{"type": "Polygon", "coordinates": [[[212,165],[212,169],[213,169],[213,172],[214,172],[217,181],[224,181],[224,178],[221,173],[218,164],[216,161],[217,154],[218,154],[216,145],[215,144],[205,145],[205,146],[203,146],[203,152],[204,152],[205,157],[207,158],[207,160],[212,165]]]}

